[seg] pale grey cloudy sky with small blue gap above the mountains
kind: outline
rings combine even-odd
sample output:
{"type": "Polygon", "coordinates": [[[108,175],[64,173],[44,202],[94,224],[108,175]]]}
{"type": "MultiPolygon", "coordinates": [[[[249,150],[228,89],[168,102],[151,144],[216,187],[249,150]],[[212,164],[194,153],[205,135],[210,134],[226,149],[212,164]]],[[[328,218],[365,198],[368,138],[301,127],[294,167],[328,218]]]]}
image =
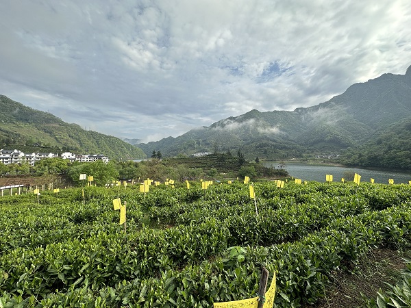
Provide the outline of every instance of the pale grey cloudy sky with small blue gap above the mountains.
{"type": "Polygon", "coordinates": [[[0,1],[0,94],[143,142],[410,65],[410,0],[0,1]]]}

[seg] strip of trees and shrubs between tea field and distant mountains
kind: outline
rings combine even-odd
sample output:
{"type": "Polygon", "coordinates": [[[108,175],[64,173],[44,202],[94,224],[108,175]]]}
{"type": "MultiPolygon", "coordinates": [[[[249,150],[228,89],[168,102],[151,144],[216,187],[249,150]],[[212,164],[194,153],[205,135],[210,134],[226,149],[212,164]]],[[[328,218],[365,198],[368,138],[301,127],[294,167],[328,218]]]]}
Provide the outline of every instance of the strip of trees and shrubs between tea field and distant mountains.
{"type": "Polygon", "coordinates": [[[242,157],[228,154],[212,154],[205,157],[183,157],[173,159],[148,159],[142,162],[102,161],[92,163],[70,163],[59,157],[42,159],[34,166],[28,164],[3,164],[0,162],[0,175],[27,176],[67,176],[75,185],[79,184],[79,175],[86,173],[96,177],[97,185],[111,183],[112,180],[139,181],[149,177],[155,181],[167,178],[184,181],[184,179],[219,179],[235,178],[249,175],[279,179],[288,177],[286,170],[265,167],[256,162],[247,162],[242,157]]]}

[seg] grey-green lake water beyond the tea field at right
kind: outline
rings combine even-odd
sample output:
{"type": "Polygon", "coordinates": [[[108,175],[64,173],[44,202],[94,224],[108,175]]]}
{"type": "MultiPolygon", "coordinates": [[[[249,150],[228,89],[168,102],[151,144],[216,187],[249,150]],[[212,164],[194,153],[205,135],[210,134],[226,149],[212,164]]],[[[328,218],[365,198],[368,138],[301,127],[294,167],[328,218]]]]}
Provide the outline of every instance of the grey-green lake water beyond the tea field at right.
{"type": "MultiPolygon", "coordinates": [[[[279,162],[265,162],[264,166],[273,166],[277,169],[279,162]]],[[[353,171],[361,175],[362,182],[369,182],[371,177],[375,183],[388,184],[388,179],[394,179],[394,183],[406,183],[411,181],[411,172],[390,172],[380,170],[367,170],[360,168],[345,168],[337,166],[314,166],[308,164],[286,163],[285,168],[291,177],[303,181],[325,182],[325,175],[332,175],[334,181],[341,181],[344,172],[353,171]]]]}

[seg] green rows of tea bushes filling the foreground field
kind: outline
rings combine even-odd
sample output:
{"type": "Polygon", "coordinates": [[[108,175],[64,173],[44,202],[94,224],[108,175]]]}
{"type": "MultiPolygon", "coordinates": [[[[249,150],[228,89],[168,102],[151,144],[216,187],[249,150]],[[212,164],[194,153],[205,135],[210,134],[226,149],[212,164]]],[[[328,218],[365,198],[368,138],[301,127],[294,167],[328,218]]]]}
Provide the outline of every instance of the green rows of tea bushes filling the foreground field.
{"type": "Polygon", "coordinates": [[[277,272],[275,306],[300,307],[370,246],[410,241],[406,185],[256,183],[258,216],[248,185],[176,186],[0,198],[0,303],[212,307],[255,296],[266,266],[277,272]]]}

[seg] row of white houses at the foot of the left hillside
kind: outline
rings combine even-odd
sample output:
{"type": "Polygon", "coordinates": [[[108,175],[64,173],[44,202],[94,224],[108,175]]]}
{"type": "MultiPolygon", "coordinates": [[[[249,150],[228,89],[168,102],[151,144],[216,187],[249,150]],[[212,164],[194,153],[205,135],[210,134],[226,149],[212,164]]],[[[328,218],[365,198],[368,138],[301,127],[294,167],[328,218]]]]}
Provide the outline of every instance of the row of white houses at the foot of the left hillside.
{"type": "Polygon", "coordinates": [[[18,150],[3,150],[0,149],[0,162],[7,164],[29,164],[34,166],[40,159],[61,157],[69,159],[70,162],[95,162],[101,159],[103,162],[108,162],[108,157],[104,155],[76,155],[70,152],[64,152],[60,156],[55,153],[31,153],[25,154],[18,150]]]}

